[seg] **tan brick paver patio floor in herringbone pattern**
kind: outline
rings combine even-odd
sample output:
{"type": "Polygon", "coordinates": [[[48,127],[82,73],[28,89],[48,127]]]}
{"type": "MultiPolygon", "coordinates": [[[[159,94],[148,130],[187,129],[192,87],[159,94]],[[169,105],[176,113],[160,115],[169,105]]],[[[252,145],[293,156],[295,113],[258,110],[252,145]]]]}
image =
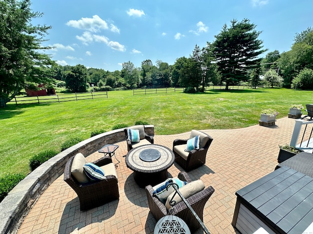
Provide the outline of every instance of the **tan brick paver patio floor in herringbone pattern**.
{"type": "MultiPolygon", "coordinates": [[[[202,130],[213,137],[206,164],[189,172],[192,180],[201,179],[215,192],[205,205],[203,222],[211,234],[234,234],[231,226],[236,203],[235,192],[272,172],[277,165],[278,145],[289,144],[294,119],[280,118],[275,126],[254,125],[234,130],[202,130]]],[[[172,149],[176,138],[187,139],[190,132],[170,136],[155,136],[155,143],[172,149]]],[[[93,161],[102,154],[88,156],[93,161]]],[[[134,182],[133,172],[126,167],[126,141],[119,143],[116,156],[119,200],[87,212],[81,212],[75,192],[56,179],[38,199],[24,219],[19,234],[150,234],[156,220],[149,212],[144,189],[134,182]]],[[[116,162],[115,158],[112,158],[116,162]]],[[[168,172],[177,176],[181,170],[174,163],[168,172]]],[[[202,233],[201,229],[197,233],[202,233]]]]}

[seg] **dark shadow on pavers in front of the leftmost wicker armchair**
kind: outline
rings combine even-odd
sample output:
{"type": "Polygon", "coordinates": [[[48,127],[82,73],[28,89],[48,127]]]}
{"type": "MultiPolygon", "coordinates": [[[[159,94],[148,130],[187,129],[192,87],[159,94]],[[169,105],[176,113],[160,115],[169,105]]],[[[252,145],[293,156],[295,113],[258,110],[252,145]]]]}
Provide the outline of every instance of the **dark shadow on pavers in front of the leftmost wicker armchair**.
{"type": "Polygon", "coordinates": [[[91,223],[101,223],[103,220],[111,218],[115,215],[118,202],[119,199],[88,211],[80,211],[79,199],[78,197],[74,198],[67,202],[64,208],[58,234],[71,234],[91,223]],[[72,225],[69,225],[70,223],[72,225]]]}

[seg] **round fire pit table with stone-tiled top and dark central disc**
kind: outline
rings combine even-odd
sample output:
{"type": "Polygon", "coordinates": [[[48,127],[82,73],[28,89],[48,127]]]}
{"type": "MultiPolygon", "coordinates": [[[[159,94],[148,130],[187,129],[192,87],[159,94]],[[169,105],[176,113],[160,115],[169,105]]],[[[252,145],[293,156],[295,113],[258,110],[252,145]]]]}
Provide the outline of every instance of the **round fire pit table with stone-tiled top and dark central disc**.
{"type": "Polygon", "coordinates": [[[148,144],[130,150],[125,158],[126,165],[134,171],[134,180],[139,187],[156,185],[167,179],[167,169],[170,168],[175,156],[169,148],[148,144]]]}

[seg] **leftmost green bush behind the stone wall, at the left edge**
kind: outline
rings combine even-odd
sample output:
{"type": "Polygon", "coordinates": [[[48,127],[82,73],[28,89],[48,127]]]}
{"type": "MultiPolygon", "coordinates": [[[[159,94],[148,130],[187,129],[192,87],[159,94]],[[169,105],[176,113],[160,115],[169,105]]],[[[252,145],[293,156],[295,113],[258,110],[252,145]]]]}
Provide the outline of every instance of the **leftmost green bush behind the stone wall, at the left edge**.
{"type": "Polygon", "coordinates": [[[23,174],[7,174],[0,177],[0,202],[23,178],[23,174]]]}

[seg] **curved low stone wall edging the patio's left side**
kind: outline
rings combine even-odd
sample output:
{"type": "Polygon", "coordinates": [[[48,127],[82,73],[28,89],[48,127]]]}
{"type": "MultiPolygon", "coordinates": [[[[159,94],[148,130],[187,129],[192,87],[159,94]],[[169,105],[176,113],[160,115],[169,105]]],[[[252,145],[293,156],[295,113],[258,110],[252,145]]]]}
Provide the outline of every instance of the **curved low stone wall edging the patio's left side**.
{"type": "MultiPolygon", "coordinates": [[[[148,135],[154,136],[154,125],[145,125],[145,131],[148,135]]],[[[0,203],[1,234],[17,232],[38,197],[64,173],[65,164],[71,156],[77,153],[88,156],[105,144],[114,144],[123,140],[125,140],[124,129],[90,137],[50,158],[28,174],[0,203]]]]}

